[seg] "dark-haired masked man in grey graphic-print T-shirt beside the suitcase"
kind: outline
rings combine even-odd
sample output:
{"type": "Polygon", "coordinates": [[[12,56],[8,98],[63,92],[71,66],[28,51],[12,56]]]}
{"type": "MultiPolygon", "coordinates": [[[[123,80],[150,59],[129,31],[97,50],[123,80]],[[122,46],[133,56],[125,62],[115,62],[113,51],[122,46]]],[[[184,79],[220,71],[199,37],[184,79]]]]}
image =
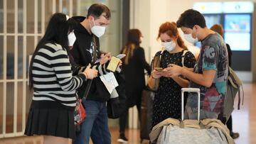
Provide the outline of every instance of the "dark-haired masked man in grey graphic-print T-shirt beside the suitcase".
{"type": "MultiPolygon", "coordinates": [[[[218,33],[206,27],[203,15],[193,9],[181,14],[177,26],[181,28],[188,42],[201,41],[201,52],[193,71],[186,67],[171,65],[169,74],[183,75],[191,80],[188,87],[201,90],[201,119],[218,118],[227,91],[228,50],[225,42],[218,33]]],[[[196,94],[188,94],[185,118],[197,118],[197,101],[196,94]]]]}

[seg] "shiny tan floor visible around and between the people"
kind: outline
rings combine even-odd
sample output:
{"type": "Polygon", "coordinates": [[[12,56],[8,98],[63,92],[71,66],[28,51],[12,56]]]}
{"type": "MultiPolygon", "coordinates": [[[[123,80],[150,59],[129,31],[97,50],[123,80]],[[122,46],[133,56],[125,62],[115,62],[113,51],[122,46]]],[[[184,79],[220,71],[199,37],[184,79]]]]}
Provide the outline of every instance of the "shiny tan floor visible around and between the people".
{"type": "MultiPolygon", "coordinates": [[[[235,140],[237,144],[256,143],[256,83],[243,84],[245,92],[244,105],[240,110],[235,108],[233,112],[233,131],[239,132],[240,137],[235,140]]],[[[112,143],[117,143],[118,128],[110,128],[112,133],[112,143]]],[[[129,129],[126,131],[130,144],[139,144],[139,130],[129,129]]],[[[40,144],[41,137],[21,137],[0,139],[0,144],[40,144]],[[26,142],[25,142],[26,141],[26,142]]],[[[91,143],[91,142],[90,142],[91,143]]],[[[148,143],[148,141],[144,141],[148,143]]]]}

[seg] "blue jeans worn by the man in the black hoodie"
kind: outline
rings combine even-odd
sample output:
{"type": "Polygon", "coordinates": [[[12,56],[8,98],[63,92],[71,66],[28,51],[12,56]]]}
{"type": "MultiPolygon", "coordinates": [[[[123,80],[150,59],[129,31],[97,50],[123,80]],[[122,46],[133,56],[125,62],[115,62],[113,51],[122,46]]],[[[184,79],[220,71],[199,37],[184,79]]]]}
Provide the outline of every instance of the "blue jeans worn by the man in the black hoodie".
{"type": "Polygon", "coordinates": [[[81,131],[73,144],[88,144],[90,137],[94,144],[110,144],[111,135],[107,125],[107,107],[105,102],[83,101],[86,118],[81,124],[81,131]]]}

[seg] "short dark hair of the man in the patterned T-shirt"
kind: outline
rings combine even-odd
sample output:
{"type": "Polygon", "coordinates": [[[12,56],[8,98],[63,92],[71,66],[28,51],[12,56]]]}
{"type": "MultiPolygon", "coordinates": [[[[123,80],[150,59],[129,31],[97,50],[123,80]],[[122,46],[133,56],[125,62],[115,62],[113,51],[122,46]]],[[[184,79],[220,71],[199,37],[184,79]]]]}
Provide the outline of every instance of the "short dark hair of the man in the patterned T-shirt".
{"type": "Polygon", "coordinates": [[[200,26],[201,28],[206,27],[206,20],[203,15],[196,10],[188,9],[181,13],[181,16],[178,18],[177,27],[181,28],[181,26],[192,28],[195,25],[200,26]]]}

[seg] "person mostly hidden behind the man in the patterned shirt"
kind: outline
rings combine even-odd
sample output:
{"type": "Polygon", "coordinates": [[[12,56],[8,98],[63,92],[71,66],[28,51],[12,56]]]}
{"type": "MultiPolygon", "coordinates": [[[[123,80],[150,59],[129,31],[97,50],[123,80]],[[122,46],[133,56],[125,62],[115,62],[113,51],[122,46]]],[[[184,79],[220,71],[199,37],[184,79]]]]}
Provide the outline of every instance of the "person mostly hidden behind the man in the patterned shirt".
{"type": "MultiPolygon", "coordinates": [[[[217,32],[218,34],[220,34],[223,37],[223,26],[221,26],[220,24],[215,24],[213,25],[211,28],[211,30],[217,32]]],[[[230,49],[230,45],[228,45],[228,43],[226,43],[227,45],[227,49],[228,49],[228,65],[231,67],[231,62],[232,62],[232,51],[230,49]]],[[[230,118],[228,118],[228,121],[226,123],[228,129],[230,130],[230,136],[235,139],[239,137],[239,133],[234,133],[233,132],[233,123],[232,123],[232,115],[230,115],[230,118]]]]}

